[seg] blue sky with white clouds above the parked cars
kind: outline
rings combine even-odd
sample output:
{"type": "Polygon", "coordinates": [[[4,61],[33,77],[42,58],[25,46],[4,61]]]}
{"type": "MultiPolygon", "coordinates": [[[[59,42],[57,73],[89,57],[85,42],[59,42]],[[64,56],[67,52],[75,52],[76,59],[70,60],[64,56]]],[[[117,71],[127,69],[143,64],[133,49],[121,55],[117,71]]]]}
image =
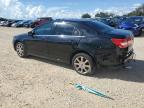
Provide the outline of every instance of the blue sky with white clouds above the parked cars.
{"type": "Polygon", "coordinates": [[[83,13],[97,12],[122,15],[134,10],[144,0],[0,0],[0,16],[33,19],[51,16],[78,18],[83,13]]]}

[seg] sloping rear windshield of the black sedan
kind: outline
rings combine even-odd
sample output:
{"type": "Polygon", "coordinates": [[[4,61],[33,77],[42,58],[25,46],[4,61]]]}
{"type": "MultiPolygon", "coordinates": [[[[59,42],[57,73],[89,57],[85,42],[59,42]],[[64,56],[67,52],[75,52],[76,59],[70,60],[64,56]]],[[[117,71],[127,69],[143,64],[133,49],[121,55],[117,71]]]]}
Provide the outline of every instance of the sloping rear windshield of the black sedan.
{"type": "Polygon", "coordinates": [[[108,32],[108,31],[112,31],[114,29],[113,27],[110,27],[99,21],[86,21],[85,25],[95,29],[98,32],[108,32]]]}

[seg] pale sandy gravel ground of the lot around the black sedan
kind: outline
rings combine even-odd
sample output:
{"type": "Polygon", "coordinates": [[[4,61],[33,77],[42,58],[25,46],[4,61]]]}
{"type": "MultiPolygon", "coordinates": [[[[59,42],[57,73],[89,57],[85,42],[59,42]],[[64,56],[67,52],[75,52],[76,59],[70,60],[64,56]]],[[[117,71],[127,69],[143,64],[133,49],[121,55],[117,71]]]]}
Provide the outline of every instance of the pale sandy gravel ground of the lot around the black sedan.
{"type": "Polygon", "coordinates": [[[144,37],[135,38],[132,69],[101,69],[88,77],[62,63],[19,58],[12,38],[27,31],[0,27],[0,108],[144,108],[144,37]],[[70,82],[95,88],[114,100],[77,90],[70,82]]]}

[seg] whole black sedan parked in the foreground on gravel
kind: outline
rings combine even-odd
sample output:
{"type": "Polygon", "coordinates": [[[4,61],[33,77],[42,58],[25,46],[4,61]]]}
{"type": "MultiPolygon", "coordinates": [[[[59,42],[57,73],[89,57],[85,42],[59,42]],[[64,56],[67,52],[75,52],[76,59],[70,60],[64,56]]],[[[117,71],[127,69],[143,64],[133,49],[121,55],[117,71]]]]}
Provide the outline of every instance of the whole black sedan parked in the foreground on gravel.
{"type": "Polygon", "coordinates": [[[15,36],[20,57],[28,55],[72,64],[82,75],[93,74],[98,65],[114,66],[132,59],[133,34],[98,21],[61,19],[15,36]]]}

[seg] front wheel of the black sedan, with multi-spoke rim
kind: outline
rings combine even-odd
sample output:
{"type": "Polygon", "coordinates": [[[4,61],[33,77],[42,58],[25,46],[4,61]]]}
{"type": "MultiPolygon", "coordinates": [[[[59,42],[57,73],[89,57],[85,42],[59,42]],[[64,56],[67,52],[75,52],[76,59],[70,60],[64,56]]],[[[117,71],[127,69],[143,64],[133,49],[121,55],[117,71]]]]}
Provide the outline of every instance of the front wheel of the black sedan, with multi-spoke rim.
{"type": "Polygon", "coordinates": [[[17,42],[15,45],[15,49],[19,57],[27,57],[26,48],[22,42],[17,42]]]}

